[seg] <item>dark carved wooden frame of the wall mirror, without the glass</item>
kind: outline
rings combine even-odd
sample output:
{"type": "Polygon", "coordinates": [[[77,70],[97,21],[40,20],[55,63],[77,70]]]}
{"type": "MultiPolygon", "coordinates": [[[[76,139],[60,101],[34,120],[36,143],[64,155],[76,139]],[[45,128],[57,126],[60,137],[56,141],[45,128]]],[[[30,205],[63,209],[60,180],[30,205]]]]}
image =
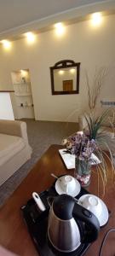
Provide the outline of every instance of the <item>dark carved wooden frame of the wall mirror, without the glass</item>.
{"type": "Polygon", "coordinates": [[[54,67],[50,67],[52,95],[78,94],[79,93],[79,74],[80,74],[80,62],[76,63],[72,60],[63,60],[63,61],[56,62],[54,67]],[[67,91],[55,90],[54,70],[60,69],[60,68],[66,68],[66,67],[77,67],[76,90],[67,90],[67,91]]]}

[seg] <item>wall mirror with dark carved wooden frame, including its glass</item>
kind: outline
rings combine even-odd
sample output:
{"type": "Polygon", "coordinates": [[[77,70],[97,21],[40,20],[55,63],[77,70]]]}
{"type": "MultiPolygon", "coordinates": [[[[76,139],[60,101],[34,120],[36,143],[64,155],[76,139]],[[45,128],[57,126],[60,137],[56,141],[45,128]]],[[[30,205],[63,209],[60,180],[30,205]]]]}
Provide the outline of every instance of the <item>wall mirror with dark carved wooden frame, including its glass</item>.
{"type": "Polygon", "coordinates": [[[50,67],[52,95],[79,93],[80,63],[58,61],[50,67]]]}

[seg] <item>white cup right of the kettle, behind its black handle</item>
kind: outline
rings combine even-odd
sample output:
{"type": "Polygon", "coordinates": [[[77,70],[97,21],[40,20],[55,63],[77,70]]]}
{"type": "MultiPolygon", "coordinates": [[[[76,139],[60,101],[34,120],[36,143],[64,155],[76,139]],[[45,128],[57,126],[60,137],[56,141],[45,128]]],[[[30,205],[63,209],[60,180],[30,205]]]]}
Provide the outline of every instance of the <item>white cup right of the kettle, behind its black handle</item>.
{"type": "Polygon", "coordinates": [[[87,195],[82,202],[82,206],[93,212],[97,218],[101,216],[102,206],[100,198],[95,195],[87,195]]]}

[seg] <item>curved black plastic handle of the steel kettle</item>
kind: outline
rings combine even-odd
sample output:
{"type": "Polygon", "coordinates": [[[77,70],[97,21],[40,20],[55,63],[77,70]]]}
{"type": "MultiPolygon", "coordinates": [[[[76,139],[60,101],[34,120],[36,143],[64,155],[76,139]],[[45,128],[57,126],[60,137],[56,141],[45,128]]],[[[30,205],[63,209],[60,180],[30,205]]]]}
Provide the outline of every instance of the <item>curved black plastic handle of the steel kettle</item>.
{"type": "Polygon", "coordinates": [[[83,223],[89,226],[88,230],[86,227],[87,232],[84,233],[83,242],[95,241],[100,231],[100,224],[95,215],[84,207],[79,206],[78,203],[75,203],[72,215],[73,217],[78,218],[78,220],[83,221],[83,223]]]}

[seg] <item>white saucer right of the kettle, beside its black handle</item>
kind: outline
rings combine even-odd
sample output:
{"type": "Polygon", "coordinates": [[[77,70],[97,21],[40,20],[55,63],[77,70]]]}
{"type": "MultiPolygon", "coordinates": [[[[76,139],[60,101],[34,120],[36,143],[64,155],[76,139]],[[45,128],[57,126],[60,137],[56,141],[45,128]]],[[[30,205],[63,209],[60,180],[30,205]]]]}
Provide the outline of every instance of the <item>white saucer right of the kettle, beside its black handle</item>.
{"type": "MultiPolygon", "coordinates": [[[[99,198],[96,195],[82,195],[79,199],[78,199],[78,204],[83,206],[83,201],[87,196],[95,196],[96,198],[98,198],[98,200],[101,201],[101,207],[102,207],[102,212],[101,212],[101,216],[98,218],[99,223],[100,223],[100,227],[104,226],[109,218],[109,213],[108,213],[108,209],[106,207],[106,204],[104,203],[104,201],[101,200],[101,198],[99,198]]],[[[91,212],[91,211],[90,211],[91,212]]]]}

